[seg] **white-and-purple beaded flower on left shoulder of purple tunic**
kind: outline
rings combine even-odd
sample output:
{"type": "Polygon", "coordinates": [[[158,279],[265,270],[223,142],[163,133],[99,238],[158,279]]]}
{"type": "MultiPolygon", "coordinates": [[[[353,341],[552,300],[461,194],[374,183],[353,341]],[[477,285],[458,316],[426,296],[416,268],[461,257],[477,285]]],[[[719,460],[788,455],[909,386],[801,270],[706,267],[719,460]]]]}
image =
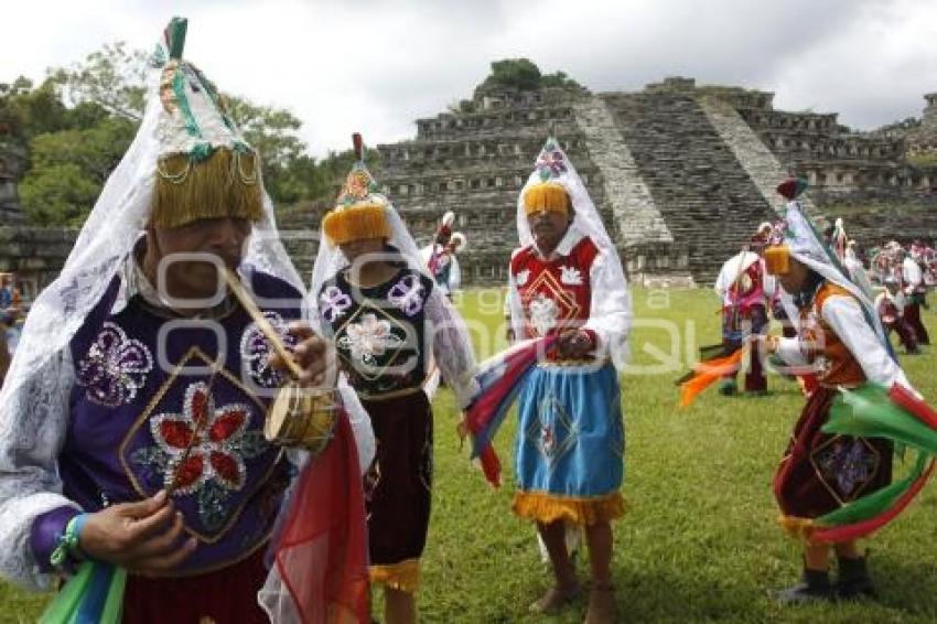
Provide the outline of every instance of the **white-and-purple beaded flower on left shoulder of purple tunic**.
{"type": "Polygon", "coordinates": [[[153,369],[147,345],[115,323],[106,322],[88,354],[78,363],[77,381],[88,388],[91,401],[117,407],[133,400],[153,369]]]}

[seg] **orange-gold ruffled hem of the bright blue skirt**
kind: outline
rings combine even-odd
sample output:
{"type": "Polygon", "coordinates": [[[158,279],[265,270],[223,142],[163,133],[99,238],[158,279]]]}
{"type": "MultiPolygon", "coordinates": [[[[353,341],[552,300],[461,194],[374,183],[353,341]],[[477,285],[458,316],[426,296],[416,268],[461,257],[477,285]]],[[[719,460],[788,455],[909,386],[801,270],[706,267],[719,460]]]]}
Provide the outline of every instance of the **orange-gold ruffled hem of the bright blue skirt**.
{"type": "Polygon", "coordinates": [[[518,492],[514,495],[513,509],[517,516],[538,523],[568,520],[589,526],[621,518],[625,515],[626,505],[620,492],[590,497],[518,492]]]}

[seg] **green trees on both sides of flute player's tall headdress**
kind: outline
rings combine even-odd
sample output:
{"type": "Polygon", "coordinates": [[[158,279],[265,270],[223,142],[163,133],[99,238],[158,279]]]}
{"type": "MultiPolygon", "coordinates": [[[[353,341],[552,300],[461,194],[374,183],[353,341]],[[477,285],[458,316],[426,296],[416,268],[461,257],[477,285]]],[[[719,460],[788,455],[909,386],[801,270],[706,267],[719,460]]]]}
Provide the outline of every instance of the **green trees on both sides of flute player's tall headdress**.
{"type": "MultiPolygon", "coordinates": [[[[13,138],[30,152],[20,195],[33,223],[78,225],[94,206],[142,119],[148,65],[144,52],[118,42],[50,72],[39,87],[25,78],[0,84],[0,139],[13,138]]],[[[223,97],[260,154],[274,205],[334,192],[351,166],[351,152],[316,162],[299,138],[302,122],[292,112],[223,97]]]]}

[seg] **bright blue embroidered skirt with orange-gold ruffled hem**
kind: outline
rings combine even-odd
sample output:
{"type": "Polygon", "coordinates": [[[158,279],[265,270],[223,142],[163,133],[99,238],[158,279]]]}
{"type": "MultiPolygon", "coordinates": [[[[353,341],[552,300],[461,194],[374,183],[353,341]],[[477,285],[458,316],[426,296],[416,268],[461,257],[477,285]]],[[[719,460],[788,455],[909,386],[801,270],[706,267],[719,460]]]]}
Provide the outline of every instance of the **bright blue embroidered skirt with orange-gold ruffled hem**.
{"type": "Polygon", "coordinates": [[[624,514],[625,430],[611,364],[541,364],[519,397],[517,515],[591,525],[624,514]]]}

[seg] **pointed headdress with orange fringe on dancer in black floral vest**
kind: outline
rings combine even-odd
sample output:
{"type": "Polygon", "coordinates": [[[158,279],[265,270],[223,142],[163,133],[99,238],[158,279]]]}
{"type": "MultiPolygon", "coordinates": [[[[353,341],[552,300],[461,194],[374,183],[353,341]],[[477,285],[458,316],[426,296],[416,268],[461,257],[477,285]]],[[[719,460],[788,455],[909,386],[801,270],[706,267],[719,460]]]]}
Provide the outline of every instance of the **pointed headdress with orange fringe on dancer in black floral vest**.
{"type": "Polygon", "coordinates": [[[387,220],[388,201],[380,185],[364,163],[364,143],[352,135],[355,164],[335,200],[335,207],[322,219],[322,230],[332,245],[344,245],[364,238],[390,238],[387,220]]]}

